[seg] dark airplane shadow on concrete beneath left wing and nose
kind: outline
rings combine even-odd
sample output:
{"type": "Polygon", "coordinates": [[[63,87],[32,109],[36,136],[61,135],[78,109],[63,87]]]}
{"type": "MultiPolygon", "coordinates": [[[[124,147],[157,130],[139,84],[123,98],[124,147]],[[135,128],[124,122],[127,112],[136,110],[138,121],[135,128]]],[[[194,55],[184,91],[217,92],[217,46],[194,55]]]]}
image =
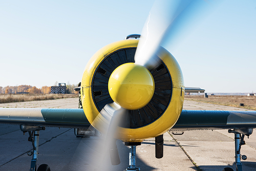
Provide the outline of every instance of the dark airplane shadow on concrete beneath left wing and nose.
{"type": "MultiPolygon", "coordinates": [[[[31,156],[26,154],[32,149],[31,142],[28,141],[28,133],[18,130],[18,125],[0,124],[0,170],[28,170],[31,156]],[[10,153],[11,149],[11,153],[10,153]]],[[[73,129],[58,129],[47,127],[45,131],[40,131],[38,166],[49,164],[52,170],[102,170],[91,169],[94,165],[100,165],[98,156],[93,156],[92,152],[99,152],[97,137],[76,138],[73,129]]],[[[118,151],[121,163],[112,166],[110,159],[104,165],[103,170],[124,170],[129,166],[129,147],[118,141],[118,151]]],[[[155,170],[157,168],[147,165],[137,156],[137,166],[141,170],[155,170]]]]}

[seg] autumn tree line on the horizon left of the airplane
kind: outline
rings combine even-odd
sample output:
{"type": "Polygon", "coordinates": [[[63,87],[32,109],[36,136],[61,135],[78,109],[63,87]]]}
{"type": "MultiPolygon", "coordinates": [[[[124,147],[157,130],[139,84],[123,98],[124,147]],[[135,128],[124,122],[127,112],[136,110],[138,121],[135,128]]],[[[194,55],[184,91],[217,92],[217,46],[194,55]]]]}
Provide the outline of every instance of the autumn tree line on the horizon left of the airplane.
{"type": "MultiPolygon", "coordinates": [[[[77,84],[66,84],[67,94],[77,94],[78,92],[74,91],[74,88],[77,87],[77,84]]],[[[0,94],[50,94],[51,86],[43,86],[41,89],[36,88],[35,86],[20,85],[20,86],[6,86],[0,87],[0,94]]]]}

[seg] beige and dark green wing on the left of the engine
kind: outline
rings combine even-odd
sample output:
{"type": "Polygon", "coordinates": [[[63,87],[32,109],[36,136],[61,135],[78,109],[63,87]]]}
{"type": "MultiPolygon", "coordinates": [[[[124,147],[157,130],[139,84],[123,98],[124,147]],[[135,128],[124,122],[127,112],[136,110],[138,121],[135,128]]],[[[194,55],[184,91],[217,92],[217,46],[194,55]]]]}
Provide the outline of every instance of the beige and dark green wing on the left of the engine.
{"type": "Polygon", "coordinates": [[[0,108],[0,123],[72,128],[90,126],[83,109],[0,108]]]}

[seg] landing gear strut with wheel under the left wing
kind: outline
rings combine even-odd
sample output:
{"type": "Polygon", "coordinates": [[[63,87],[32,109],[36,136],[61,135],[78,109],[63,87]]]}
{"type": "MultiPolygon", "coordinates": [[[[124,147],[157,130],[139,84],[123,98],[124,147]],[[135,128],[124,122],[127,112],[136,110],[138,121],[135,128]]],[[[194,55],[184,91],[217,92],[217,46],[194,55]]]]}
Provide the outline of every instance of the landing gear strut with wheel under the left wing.
{"type": "MultiPolygon", "coordinates": [[[[38,158],[38,147],[39,147],[39,131],[45,130],[45,126],[29,126],[29,125],[20,125],[20,130],[23,133],[29,133],[29,141],[33,145],[33,157],[30,164],[30,171],[36,171],[36,163],[38,158]]],[[[31,156],[32,152],[28,152],[28,156],[31,156]]],[[[51,171],[50,167],[47,164],[41,164],[37,171],[51,171]]]]}

